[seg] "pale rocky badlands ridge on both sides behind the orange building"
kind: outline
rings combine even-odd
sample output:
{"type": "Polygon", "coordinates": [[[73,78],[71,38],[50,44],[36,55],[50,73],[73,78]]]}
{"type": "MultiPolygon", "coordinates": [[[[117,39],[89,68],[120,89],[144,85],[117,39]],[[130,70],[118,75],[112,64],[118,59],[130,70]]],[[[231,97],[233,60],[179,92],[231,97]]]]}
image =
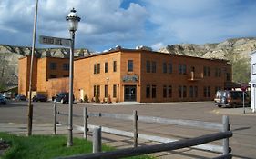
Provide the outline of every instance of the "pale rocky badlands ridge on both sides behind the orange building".
{"type": "MultiPolygon", "coordinates": [[[[256,50],[256,37],[227,39],[221,43],[194,45],[167,45],[158,51],[165,54],[189,55],[201,58],[217,58],[229,60],[233,68],[233,81],[247,83],[250,81],[250,55],[256,50]]],[[[0,45],[0,89],[17,85],[18,59],[30,55],[31,47],[0,45]]],[[[97,54],[88,49],[75,50],[75,56],[97,54]]],[[[67,48],[37,48],[36,57],[68,58],[67,48]]]]}

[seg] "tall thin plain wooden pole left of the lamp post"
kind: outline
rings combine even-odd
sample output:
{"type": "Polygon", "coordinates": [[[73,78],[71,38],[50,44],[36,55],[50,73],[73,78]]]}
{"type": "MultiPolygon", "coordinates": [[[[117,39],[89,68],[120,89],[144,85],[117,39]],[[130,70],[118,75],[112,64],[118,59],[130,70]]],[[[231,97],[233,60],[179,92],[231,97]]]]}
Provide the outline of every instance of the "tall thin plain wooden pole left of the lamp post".
{"type": "Polygon", "coordinates": [[[33,63],[34,63],[34,54],[35,54],[35,45],[36,45],[36,22],[37,22],[37,8],[38,0],[36,0],[36,10],[34,17],[34,29],[33,29],[33,42],[32,42],[32,51],[31,51],[31,62],[30,62],[30,71],[29,71],[29,97],[28,97],[28,113],[27,113],[27,135],[32,134],[32,121],[33,121],[33,105],[31,104],[32,98],[32,78],[33,78],[33,63]]]}

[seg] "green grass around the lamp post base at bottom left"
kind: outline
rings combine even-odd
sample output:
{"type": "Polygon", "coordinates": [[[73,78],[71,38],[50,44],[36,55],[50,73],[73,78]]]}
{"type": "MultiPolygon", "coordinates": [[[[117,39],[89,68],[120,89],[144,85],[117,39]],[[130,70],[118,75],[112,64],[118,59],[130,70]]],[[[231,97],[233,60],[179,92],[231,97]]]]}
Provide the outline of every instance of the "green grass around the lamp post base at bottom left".
{"type": "MultiPolygon", "coordinates": [[[[92,153],[92,143],[84,139],[74,138],[74,145],[67,148],[67,137],[61,135],[32,135],[30,137],[0,133],[0,138],[11,147],[2,159],[49,159],[74,154],[92,153]]],[[[114,148],[103,145],[103,151],[114,148]]],[[[130,157],[134,159],[151,159],[150,156],[130,157]]]]}

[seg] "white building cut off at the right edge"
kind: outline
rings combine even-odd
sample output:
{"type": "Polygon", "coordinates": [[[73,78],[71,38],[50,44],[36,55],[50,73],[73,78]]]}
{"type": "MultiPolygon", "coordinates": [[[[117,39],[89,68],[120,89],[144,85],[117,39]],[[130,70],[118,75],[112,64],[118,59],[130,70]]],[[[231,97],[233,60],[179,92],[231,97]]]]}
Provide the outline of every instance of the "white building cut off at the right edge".
{"type": "Polygon", "coordinates": [[[251,53],[251,109],[256,112],[256,51],[251,53]]]}

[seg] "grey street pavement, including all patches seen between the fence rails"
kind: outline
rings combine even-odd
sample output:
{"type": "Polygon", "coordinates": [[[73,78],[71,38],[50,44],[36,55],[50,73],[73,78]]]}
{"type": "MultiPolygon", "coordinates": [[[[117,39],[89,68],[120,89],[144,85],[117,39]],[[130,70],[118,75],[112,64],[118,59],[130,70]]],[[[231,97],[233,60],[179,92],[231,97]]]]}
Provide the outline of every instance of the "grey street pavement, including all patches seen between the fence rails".
{"type": "MultiPolygon", "coordinates": [[[[163,103],[163,104],[143,104],[143,103],[118,103],[118,104],[85,104],[78,103],[74,105],[74,114],[82,114],[83,107],[87,107],[89,112],[105,112],[118,114],[132,114],[133,110],[138,110],[138,115],[159,116],[165,118],[200,120],[206,122],[221,123],[221,115],[227,114],[230,116],[230,123],[232,125],[233,137],[230,139],[230,146],[232,147],[233,158],[256,158],[256,114],[251,112],[250,108],[223,109],[217,107],[207,107],[211,103],[163,103]],[[182,107],[183,106],[183,107],[182,107]],[[194,110],[199,109],[199,110],[194,110]],[[254,144],[253,144],[254,143],[254,144]]],[[[33,134],[53,134],[53,117],[51,103],[35,103],[34,104],[34,121],[33,134]],[[38,104],[38,105],[37,105],[38,104]],[[51,116],[51,117],[50,117],[51,116]]],[[[67,104],[58,104],[61,111],[67,111],[67,104]]],[[[12,134],[26,135],[26,103],[13,103],[9,107],[0,105],[0,132],[9,132],[12,134]],[[12,116],[12,115],[14,116],[12,116]]],[[[59,120],[66,120],[65,117],[59,120]]],[[[91,123],[110,126],[115,124],[115,128],[129,130],[129,122],[108,121],[90,119],[91,123]]],[[[82,122],[74,117],[74,124],[82,125],[82,122]]],[[[169,137],[171,132],[178,138],[190,138],[199,136],[201,134],[210,134],[211,132],[204,132],[203,130],[183,129],[180,127],[168,126],[166,124],[138,124],[139,131],[169,137]],[[203,133],[201,133],[203,132],[203,133]],[[181,136],[182,134],[182,136],[181,136]]],[[[67,126],[58,125],[57,134],[67,134],[67,126]]],[[[74,129],[75,137],[83,137],[83,134],[74,129]]],[[[108,144],[116,148],[127,148],[132,146],[133,139],[124,136],[117,136],[113,134],[102,134],[103,144],[108,144]]],[[[0,136],[1,138],[1,136],[0,136]]],[[[91,139],[91,134],[89,134],[91,139]]],[[[146,140],[138,140],[138,145],[158,144],[146,140]]],[[[221,144],[221,142],[216,143],[221,144]]],[[[207,151],[199,151],[191,148],[181,149],[178,151],[163,152],[154,154],[158,158],[212,158],[220,154],[210,153],[207,151]]]]}

